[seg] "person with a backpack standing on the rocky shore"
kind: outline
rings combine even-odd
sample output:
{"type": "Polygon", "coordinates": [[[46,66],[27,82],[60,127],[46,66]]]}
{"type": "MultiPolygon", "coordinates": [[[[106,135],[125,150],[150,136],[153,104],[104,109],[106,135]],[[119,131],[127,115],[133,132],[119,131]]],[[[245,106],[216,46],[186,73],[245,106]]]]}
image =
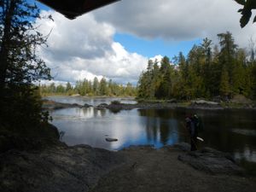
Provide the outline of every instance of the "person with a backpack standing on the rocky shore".
{"type": "Polygon", "coordinates": [[[192,117],[187,117],[186,119],[186,127],[189,130],[189,135],[190,135],[190,144],[191,144],[191,151],[197,150],[196,147],[196,137],[198,136],[198,131],[196,129],[196,122],[194,118],[192,117]]]}

